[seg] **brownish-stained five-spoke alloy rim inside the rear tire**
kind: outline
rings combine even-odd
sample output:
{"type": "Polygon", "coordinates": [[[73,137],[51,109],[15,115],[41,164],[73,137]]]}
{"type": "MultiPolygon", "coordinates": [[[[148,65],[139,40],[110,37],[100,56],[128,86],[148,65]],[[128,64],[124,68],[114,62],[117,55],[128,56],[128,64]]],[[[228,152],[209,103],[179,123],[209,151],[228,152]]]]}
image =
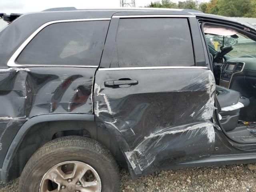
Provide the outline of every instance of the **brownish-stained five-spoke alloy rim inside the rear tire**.
{"type": "Polygon", "coordinates": [[[101,181],[90,165],[66,161],[53,166],[44,174],[40,192],[100,192],[101,181]]]}

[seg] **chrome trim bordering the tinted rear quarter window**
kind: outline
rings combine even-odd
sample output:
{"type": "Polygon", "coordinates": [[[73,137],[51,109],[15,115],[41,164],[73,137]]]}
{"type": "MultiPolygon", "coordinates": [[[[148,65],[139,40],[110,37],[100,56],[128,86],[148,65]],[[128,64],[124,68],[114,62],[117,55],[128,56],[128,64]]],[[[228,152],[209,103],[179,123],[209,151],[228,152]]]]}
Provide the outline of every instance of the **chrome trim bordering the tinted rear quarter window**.
{"type": "MultiPolygon", "coordinates": [[[[23,51],[23,49],[28,45],[28,43],[44,28],[46,28],[47,26],[51,25],[51,24],[55,24],[55,23],[64,23],[64,22],[80,22],[80,21],[104,21],[104,20],[111,20],[111,18],[90,18],[90,19],[68,19],[68,20],[54,20],[54,21],[50,21],[47,22],[45,24],[43,24],[42,26],[40,26],[37,30],[35,30],[21,45],[20,47],[14,52],[14,54],[11,56],[11,58],[8,60],[7,62],[7,66],[9,67],[23,67],[23,66],[31,66],[31,67],[36,67],[36,66],[50,66],[50,65],[34,65],[34,64],[17,64],[16,63],[16,59],[18,58],[18,56],[20,55],[20,53],[23,51]]],[[[60,67],[68,67],[69,65],[53,65],[53,66],[60,66],[60,67]]],[[[71,67],[73,67],[73,65],[70,65],[71,67]]],[[[82,67],[82,66],[80,66],[82,67]]],[[[87,66],[86,66],[87,67],[87,66]]],[[[92,67],[92,66],[88,66],[88,67],[92,67]]],[[[98,67],[98,66],[93,66],[93,67],[98,67]]]]}

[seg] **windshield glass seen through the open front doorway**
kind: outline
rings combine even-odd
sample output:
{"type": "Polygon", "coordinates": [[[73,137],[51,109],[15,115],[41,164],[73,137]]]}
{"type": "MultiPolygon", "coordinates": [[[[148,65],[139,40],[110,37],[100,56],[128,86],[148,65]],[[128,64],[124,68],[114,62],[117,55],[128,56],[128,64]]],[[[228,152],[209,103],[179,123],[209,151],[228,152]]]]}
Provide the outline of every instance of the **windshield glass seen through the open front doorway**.
{"type": "Polygon", "coordinates": [[[214,50],[220,51],[220,47],[224,42],[224,46],[231,45],[233,50],[227,55],[234,57],[253,57],[256,58],[256,42],[250,38],[236,33],[232,36],[206,34],[206,42],[214,50]],[[233,37],[232,37],[233,36],[233,37]],[[234,37],[235,36],[235,37],[234,37]],[[224,38],[224,39],[223,39],[224,38]],[[224,41],[223,41],[224,40],[224,41]]]}

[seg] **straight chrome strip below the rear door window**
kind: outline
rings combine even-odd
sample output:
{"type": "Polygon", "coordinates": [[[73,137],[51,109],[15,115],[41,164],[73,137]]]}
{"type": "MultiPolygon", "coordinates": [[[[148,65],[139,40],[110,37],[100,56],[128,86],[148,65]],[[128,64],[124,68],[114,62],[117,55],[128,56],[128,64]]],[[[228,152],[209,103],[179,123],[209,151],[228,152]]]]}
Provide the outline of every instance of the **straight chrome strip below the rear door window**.
{"type": "Polygon", "coordinates": [[[165,66],[165,67],[119,67],[119,68],[99,68],[99,71],[115,71],[115,70],[142,70],[142,69],[209,69],[200,66],[165,66]]]}

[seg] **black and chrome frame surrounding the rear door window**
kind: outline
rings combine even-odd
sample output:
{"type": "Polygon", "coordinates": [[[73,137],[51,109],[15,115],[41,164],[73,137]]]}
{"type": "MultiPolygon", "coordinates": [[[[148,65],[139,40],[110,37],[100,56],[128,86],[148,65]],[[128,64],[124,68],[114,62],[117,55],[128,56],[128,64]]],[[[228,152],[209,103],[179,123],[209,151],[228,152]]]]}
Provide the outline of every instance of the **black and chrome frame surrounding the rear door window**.
{"type": "MultiPolygon", "coordinates": [[[[195,15],[154,15],[154,14],[152,14],[152,15],[113,15],[112,16],[111,21],[110,21],[109,31],[112,31],[112,32],[114,31],[115,34],[114,35],[113,34],[111,35],[109,33],[107,34],[105,47],[104,47],[104,50],[102,53],[102,57],[104,58],[104,60],[101,60],[99,69],[100,68],[114,68],[114,69],[122,68],[122,67],[116,67],[116,66],[111,67],[111,65],[110,65],[111,62],[109,60],[110,59],[109,54],[113,50],[112,43],[115,42],[115,39],[113,39],[113,38],[116,38],[119,20],[120,19],[129,19],[129,18],[186,18],[188,20],[188,27],[190,29],[190,37],[191,37],[193,56],[194,56],[194,66],[184,66],[184,67],[181,67],[181,66],[163,66],[163,67],[155,66],[152,68],[173,68],[173,69],[174,68],[195,68],[195,67],[196,68],[204,68],[204,69],[207,68],[206,66],[197,66],[197,62],[196,62],[196,53],[195,53],[196,50],[194,48],[193,34],[192,34],[191,26],[190,26],[190,22],[191,22],[190,18],[193,18],[196,20],[195,15]],[[109,36],[111,36],[111,37],[109,38],[109,36]],[[104,54],[106,54],[106,52],[108,52],[107,55],[104,55],[104,54]]],[[[123,67],[123,68],[125,68],[125,67],[123,67]]],[[[148,69],[149,67],[129,67],[129,68],[130,69],[132,69],[132,68],[148,69]]]]}

